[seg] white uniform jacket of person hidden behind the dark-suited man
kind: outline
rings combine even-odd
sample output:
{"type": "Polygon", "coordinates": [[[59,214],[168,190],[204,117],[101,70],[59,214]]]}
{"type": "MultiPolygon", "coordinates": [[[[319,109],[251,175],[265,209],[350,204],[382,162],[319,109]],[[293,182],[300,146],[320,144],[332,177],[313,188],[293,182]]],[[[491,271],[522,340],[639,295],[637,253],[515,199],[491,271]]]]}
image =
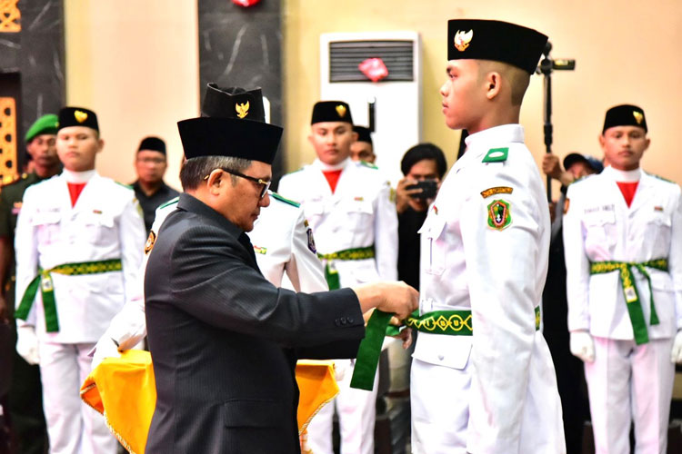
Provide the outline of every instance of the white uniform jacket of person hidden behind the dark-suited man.
{"type": "MultiPolygon", "coordinates": [[[[165,218],[177,207],[177,198],[166,202],[156,210],[150,238],[154,238],[165,218]]],[[[313,232],[307,225],[303,210],[295,202],[283,200],[270,193],[270,205],[262,209],[254,223],[254,230],[247,232],[254,245],[258,268],[276,287],[283,285],[283,276],[296,291],[313,293],[328,291],[322,263],[315,253],[313,232]]],[[[145,251],[151,251],[154,240],[147,241],[145,251]]],[[[146,335],[145,323],[145,259],[138,273],[135,298],[125,304],[118,313],[107,335],[118,342],[123,350],[131,349],[146,335]]]]}

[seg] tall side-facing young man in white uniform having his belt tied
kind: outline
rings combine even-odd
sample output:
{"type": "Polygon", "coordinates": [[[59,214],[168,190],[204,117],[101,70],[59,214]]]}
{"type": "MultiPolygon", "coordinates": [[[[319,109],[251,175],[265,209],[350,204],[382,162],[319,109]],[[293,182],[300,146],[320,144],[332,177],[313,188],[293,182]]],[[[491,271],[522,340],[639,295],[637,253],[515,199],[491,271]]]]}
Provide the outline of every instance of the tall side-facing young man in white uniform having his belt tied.
{"type": "Polygon", "coordinates": [[[539,331],[549,211],[518,124],[547,36],[467,19],[449,21],[447,36],[443,114],[469,136],[420,230],[412,449],[564,453],[555,370],[539,331]]]}

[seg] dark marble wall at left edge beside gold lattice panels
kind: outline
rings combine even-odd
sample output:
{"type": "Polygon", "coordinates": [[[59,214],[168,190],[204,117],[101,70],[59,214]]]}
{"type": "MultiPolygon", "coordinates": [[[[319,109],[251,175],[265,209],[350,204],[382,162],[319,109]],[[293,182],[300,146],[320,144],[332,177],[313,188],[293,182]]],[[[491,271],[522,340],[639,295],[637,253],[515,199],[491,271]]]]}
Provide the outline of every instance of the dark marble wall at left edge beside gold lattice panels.
{"type": "Polygon", "coordinates": [[[56,114],[65,103],[64,5],[62,0],[18,2],[21,31],[0,33],[0,73],[18,73],[19,163],[25,160],[24,135],[38,116],[56,114]]]}

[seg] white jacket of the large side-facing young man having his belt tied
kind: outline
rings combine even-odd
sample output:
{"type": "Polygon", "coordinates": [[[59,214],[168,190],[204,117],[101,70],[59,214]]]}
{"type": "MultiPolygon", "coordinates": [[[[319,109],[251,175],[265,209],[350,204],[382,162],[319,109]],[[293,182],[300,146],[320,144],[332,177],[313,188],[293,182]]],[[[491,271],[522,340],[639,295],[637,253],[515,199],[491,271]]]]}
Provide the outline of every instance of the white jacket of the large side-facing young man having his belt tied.
{"type": "Polygon", "coordinates": [[[469,452],[565,452],[555,370],[536,330],[550,235],[545,188],[520,125],[472,134],[466,145],[419,231],[419,311],[470,310],[473,336],[419,332],[413,356],[456,370],[471,361],[471,388],[413,385],[464,392],[469,452]],[[500,161],[484,163],[488,154],[500,161]]]}

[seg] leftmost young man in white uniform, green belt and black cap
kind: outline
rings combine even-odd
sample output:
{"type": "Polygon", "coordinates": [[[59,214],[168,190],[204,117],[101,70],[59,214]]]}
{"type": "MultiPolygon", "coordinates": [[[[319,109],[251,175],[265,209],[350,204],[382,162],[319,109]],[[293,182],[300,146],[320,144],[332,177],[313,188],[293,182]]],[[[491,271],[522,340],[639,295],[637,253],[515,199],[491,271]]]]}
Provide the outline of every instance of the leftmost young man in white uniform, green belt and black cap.
{"type": "Polygon", "coordinates": [[[16,224],[16,350],[40,364],[50,452],[113,454],[79,390],[87,352],[135,293],[145,224],[135,192],[95,171],[95,113],[65,107],[58,128],[64,173],[26,190],[16,224]]]}

